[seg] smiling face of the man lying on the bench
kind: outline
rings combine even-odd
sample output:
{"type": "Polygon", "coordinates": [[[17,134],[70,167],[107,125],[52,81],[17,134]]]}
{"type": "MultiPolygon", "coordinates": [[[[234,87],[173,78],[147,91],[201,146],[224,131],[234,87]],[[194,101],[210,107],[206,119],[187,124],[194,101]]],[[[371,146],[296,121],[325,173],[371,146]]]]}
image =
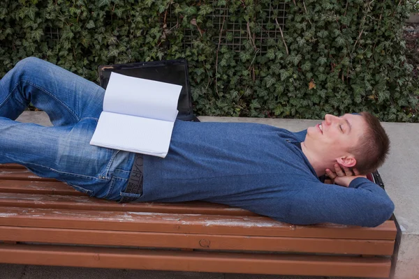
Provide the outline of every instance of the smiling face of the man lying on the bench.
{"type": "MultiPolygon", "coordinates": [[[[360,115],[345,114],[337,117],[326,114],[324,121],[307,129],[304,144],[315,153],[322,154],[325,160],[353,157],[350,151],[358,145],[366,129],[367,123],[360,115]]],[[[341,162],[338,160],[338,163],[341,162]]]]}

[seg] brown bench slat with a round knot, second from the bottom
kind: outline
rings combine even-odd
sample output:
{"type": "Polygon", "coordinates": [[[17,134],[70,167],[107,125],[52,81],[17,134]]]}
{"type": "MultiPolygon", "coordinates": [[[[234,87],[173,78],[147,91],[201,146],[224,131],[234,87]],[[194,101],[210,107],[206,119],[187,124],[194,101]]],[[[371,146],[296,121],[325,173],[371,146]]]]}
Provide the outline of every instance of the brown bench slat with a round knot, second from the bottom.
{"type": "Polygon", "coordinates": [[[369,239],[220,236],[214,234],[168,234],[156,232],[117,232],[93,229],[47,229],[7,226],[0,226],[0,240],[98,246],[317,252],[353,255],[392,255],[394,247],[394,241],[369,239]]]}

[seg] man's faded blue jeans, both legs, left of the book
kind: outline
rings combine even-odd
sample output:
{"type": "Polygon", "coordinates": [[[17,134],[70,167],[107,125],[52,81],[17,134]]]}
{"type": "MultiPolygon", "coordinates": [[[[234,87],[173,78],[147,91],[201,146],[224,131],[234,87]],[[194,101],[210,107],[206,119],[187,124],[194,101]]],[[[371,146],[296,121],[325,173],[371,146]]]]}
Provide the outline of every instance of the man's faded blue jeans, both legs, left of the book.
{"type": "Polygon", "coordinates": [[[89,144],[105,91],[52,63],[29,57],[0,80],[0,163],[24,165],[90,196],[119,200],[134,153],[89,144]],[[15,121],[32,103],[54,126],[15,121]]]}

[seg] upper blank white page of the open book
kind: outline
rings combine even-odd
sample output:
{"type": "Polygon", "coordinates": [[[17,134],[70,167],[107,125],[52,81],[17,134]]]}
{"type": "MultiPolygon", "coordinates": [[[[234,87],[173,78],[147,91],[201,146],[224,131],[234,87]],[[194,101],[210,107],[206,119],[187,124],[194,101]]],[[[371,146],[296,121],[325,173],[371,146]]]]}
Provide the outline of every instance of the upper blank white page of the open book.
{"type": "Polygon", "coordinates": [[[175,121],[182,86],[111,73],[103,111],[175,121]]]}

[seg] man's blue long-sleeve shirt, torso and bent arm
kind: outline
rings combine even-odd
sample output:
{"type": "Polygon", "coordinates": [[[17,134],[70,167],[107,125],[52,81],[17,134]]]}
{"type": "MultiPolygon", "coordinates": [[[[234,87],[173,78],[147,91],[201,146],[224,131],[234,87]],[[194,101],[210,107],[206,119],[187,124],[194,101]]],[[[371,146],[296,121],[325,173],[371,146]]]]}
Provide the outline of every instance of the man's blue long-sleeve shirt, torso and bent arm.
{"type": "Polygon", "coordinates": [[[375,227],[394,204],[368,179],[348,188],[319,181],[302,153],[307,131],[256,123],[176,121],[166,158],[145,156],[139,201],[205,200],[297,225],[375,227]]]}

